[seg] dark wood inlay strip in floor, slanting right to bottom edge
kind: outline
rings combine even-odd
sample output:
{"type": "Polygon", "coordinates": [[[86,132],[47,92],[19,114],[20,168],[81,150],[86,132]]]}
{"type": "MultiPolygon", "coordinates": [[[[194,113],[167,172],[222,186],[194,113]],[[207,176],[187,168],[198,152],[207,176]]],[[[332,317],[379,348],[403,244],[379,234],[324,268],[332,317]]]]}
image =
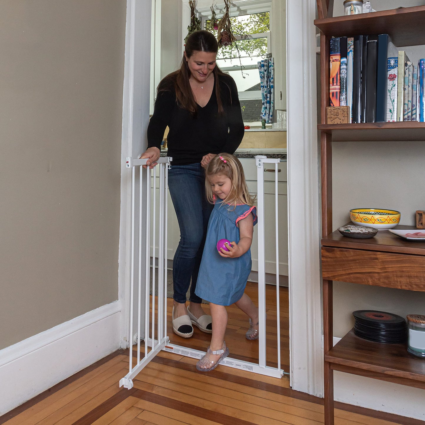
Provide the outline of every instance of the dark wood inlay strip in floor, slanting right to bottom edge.
{"type": "MultiPolygon", "coordinates": [[[[161,396],[159,394],[152,394],[144,390],[136,390],[133,397],[138,397],[141,400],[146,400],[157,405],[168,407],[170,409],[184,412],[197,418],[207,419],[212,422],[217,422],[222,425],[254,425],[252,422],[244,421],[243,419],[235,418],[234,416],[218,413],[213,410],[208,410],[203,407],[198,407],[193,404],[181,402],[175,399],[161,396]]],[[[75,424],[73,424],[75,425],[75,424]]],[[[83,425],[83,424],[78,424],[83,425]]]]}

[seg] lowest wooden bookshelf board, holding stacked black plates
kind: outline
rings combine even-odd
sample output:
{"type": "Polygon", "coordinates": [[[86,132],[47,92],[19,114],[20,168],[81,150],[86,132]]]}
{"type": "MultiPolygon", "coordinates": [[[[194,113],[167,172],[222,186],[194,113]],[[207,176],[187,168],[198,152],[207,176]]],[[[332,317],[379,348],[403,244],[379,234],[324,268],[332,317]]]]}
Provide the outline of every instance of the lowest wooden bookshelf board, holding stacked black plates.
{"type": "Polygon", "coordinates": [[[383,344],[357,337],[351,330],[325,354],[331,369],[425,388],[425,362],[406,344],[383,344]]]}

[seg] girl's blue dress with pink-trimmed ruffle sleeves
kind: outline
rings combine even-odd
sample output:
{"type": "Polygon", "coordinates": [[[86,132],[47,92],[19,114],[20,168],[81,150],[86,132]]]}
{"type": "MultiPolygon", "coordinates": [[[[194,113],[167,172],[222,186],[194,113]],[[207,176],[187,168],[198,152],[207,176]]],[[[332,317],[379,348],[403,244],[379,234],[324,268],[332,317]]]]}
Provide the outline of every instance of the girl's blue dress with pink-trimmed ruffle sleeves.
{"type": "Polygon", "coordinates": [[[239,220],[249,214],[254,216],[257,224],[257,209],[249,205],[223,204],[215,201],[210,221],[208,222],[207,239],[199,268],[195,294],[202,299],[221,306],[229,306],[238,301],[246,286],[251,272],[251,249],[238,258],[223,258],[218,254],[217,242],[228,239],[239,243],[239,220]]]}

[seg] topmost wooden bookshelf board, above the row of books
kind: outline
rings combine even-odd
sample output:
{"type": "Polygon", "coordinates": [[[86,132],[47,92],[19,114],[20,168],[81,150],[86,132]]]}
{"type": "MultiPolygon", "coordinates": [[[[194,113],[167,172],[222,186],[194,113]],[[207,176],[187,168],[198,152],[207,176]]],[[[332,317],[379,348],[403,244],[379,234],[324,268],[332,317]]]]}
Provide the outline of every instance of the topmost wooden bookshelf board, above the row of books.
{"type": "Polygon", "coordinates": [[[328,37],[389,34],[396,46],[425,44],[425,6],[405,7],[358,15],[316,19],[314,25],[328,37]]]}

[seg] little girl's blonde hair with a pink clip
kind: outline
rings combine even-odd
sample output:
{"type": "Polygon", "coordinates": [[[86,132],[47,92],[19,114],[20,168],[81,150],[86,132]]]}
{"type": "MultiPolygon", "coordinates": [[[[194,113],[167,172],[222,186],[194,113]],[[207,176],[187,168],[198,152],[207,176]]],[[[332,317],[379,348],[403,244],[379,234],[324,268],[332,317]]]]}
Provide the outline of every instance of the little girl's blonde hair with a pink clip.
{"type": "Polygon", "coordinates": [[[246,204],[251,207],[254,205],[255,196],[252,196],[248,191],[244,169],[238,158],[229,153],[219,153],[208,164],[205,170],[205,192],[207,194],[207,200],[211,204],[214,204],[215,195],[212,192],[208,177],[215,174],[227,176],[232,182],[232,189],[229,195],[227,195],[227,198],[223,200],[224,203],[233,205],[234,207],[238,204],[246,204]]]}

